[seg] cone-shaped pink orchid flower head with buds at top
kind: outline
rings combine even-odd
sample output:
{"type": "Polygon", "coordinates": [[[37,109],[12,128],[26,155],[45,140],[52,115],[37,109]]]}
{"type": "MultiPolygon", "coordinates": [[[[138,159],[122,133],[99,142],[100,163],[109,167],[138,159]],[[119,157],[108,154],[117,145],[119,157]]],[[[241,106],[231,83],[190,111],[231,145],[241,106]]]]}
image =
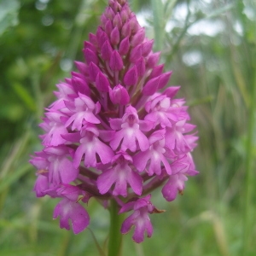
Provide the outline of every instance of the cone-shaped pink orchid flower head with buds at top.
{"type": "Polygon", "coordinates": [[[172,72],[158,65],[160,52],[145,38],[126,0],[110,0],[96,34],[84,42],[79,72],[57,84],[57,100],[40,125],[44,149],[31,163],[38,169],[34,191],[61,201],[54,211],[60,226],[75,234],[90,217],[83,203],[91,197],[108,207],[117,201],[119,214],[130,212],[123,234],[134,226],[133,240],[152,236],[148,214],[161,212],[150,201],[162,186],[166,201],[182,193],[195,165],[195,125],[178,86],[165,89],[172,72]]]}

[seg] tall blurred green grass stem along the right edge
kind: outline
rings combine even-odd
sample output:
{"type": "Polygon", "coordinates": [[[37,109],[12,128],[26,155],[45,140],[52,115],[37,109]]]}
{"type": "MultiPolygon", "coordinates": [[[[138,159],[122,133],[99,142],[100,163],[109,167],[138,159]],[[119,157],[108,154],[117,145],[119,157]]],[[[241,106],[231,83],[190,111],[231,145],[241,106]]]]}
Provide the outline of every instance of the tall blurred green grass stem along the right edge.
{"type": "MultiPolygon", "coordinates": [[[[254,51],[254,57],[256,57],[256,49],[254,51]]],[[[244,201],[244,219],[243,219],[243,252],[242,255],[246,256],[249,253],[249,240],[251,233],[252,224],[252,195],[253,195],[253,162],[254,162],[254,132],[256,130],[256,63],[253,60],[253,79],[251,86],[251,99],[249,102],[249,119],[247,126],[247,158],[245,163],[245,201],[244,201]]]]}

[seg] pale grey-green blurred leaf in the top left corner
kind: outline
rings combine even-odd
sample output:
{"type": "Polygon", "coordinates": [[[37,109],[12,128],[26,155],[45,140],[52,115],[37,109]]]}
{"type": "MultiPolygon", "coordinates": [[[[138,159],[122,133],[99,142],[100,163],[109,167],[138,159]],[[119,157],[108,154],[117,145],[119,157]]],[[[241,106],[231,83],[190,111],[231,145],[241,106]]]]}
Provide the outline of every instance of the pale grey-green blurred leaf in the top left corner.
{"type": "Polygon", "coordinates": [[[19,23],[18,12],[20,2],[17,0],[2,0],[0,3],[0,36],[9,26],[16,26],[19,23]]]}

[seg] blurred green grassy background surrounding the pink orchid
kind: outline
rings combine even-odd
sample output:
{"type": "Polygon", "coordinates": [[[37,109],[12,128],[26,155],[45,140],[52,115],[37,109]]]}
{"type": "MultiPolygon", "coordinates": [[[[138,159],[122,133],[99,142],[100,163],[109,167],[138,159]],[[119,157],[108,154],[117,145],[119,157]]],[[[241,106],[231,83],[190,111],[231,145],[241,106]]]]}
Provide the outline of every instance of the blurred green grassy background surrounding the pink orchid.
{"type": "MultiPolygon", "coordinates": [[[[54,101],[55,84],[69,77],[107,0],[0,0],[0,254],[98,255],[108,211],[91,200],[90,230],[74,236],[52,220],[58,200],[32,193],[30,155],[54,101]]],[[[256,1],[131,0],[161,62],[182,85],[197,125],[193,153],[200,175],[183,196],[151,217],[154,236],[137,245],[124,237],[123,255],[256,255],[256,1]]]]}

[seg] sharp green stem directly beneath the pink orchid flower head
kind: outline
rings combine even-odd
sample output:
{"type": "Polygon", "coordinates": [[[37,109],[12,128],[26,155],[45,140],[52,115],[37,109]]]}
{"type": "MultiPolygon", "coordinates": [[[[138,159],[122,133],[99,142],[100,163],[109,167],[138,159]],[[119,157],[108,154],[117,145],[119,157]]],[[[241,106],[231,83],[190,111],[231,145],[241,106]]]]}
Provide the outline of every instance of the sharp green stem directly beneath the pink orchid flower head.
{"type": "Polygon", "coordinates": [[[121,255],[121,243],[122,235],[120,233],[120,227],[123,221],[123,217],[118,214],[119,207],[116,201],[112,200],[110,204],[110,230],[108,241],[108,256],[121,255]]]}

